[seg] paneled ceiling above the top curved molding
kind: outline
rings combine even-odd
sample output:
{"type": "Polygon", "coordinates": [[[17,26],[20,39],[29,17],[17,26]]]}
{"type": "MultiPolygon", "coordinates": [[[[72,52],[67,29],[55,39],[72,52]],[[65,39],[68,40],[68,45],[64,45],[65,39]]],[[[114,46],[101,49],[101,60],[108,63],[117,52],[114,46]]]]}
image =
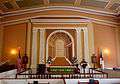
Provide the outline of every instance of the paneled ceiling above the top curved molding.
{"type": "Polygon", "coordinates": [[[0,13],[42,6],[73,6],[120,14],[120,0],[0,0],[0,13]]]}

